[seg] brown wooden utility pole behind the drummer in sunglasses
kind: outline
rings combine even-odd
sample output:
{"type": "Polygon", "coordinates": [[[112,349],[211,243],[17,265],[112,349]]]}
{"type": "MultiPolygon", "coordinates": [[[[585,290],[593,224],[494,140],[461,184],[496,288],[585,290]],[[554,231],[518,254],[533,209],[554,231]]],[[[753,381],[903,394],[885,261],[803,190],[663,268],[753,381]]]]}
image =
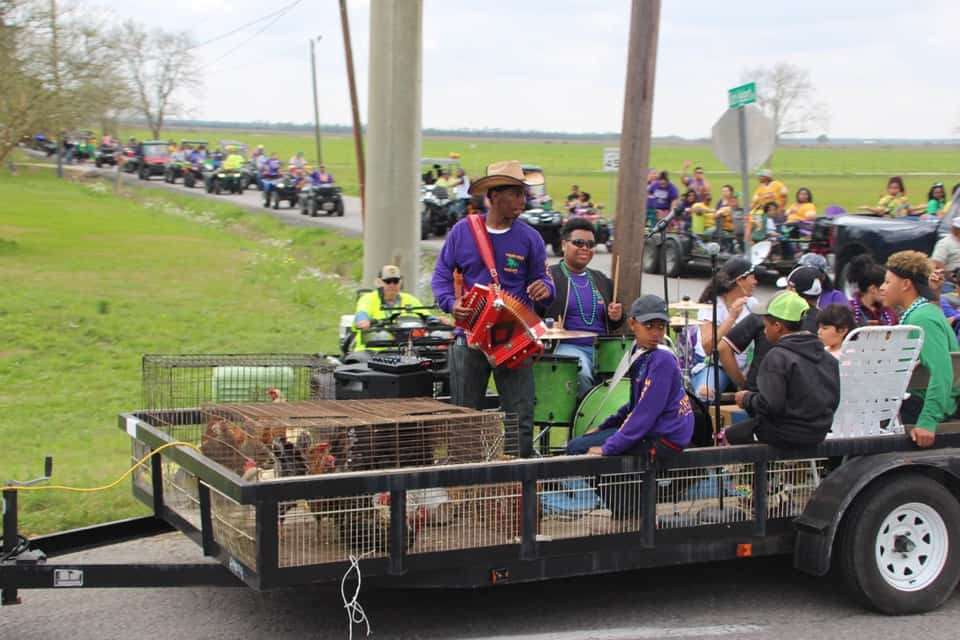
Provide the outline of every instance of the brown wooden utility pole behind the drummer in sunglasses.
{"type": "Polygon", "coordinates": [[[617,187],[614,262],[620,258],[620,300],[628,306],[640,295],[647,218],[647,171],[653,86],[657,68],[660,0],[632,0],[627,82],[620,132],[620,183],[617,187]]]}

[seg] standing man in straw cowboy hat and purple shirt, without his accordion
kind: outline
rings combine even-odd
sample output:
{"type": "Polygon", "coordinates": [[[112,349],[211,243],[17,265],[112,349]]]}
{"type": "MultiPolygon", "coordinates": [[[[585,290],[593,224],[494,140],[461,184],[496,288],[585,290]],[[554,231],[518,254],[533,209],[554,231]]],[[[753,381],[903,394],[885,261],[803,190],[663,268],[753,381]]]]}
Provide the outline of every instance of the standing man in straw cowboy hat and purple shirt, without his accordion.
{"type": "MultiPolygon", "coordinates": [[[[533,308],[534,303],[548,305],[555,288],[547,272],[543,238],[533,227],[518,221],[523,213],[526,186],[519,162],[495,162],[487,167],[486,176],[470,185],[470,195],[486,194],[490,200],[484,220],[501,287],[533,308]]],[[[454,269],[463,274],[465,291],[475,284],[490,284],[490,272],[466,218],[447,234],[431,282],[434,300],[440,308],[463,321],[470,317],[470,310],[454,295],[454,269]]],[[[480,409],[484,406],[487,380],[492,371],[503,411],[517,416],[520,455],[532,455],[533,369],[509,369],[506,365],[492,368],[485,354],[467,347],[463,335],[459,335],[451,347],[449,363],[451,399],[461,407],[480,409]]]]}

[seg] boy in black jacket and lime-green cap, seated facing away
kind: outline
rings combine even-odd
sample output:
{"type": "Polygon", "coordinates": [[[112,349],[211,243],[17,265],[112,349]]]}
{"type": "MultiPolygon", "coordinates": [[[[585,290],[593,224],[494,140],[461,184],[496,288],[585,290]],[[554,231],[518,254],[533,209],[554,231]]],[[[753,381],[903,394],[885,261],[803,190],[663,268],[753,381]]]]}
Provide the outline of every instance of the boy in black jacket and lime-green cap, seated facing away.
{"type": "Polygon", "coordinates": [[[784,291],[754,310],[763,316],[771,347],[757,373],[758,391],[737,392],[737,405],[753,419],[726,430],[729,444],[795,448],[826,438],[840,404],[840,365],[803,330],[808,308],[795,292],[784,291]]]}

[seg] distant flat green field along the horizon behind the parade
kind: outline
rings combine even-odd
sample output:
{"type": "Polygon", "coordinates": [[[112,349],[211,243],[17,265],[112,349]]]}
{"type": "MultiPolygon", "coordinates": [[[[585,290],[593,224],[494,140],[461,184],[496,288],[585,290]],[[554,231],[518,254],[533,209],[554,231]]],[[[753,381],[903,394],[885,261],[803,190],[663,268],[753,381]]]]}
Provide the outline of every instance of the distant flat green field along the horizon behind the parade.
{"type": "MultiPolygon", "coordinates": [[[[124,131],[123,137],[147,136],[146,131],[124,131]]],[[[308,158],[316,156],[313,136],[304,134],[257,133],[244,131],[174,130],[167,132],[175,140],[199,138],[215,142],[221,139],[242,140],[250,146],[264,145],[277,151],[286,162],[298,150],[308,158]]],[[[456,152],[468,174],[482,175],[495,160],[513,159],[544,167],[548,191],[555,201],[562,200],[570,185],[579,184],[591,193],[594,202],[613,205],[610,201],[610,174],[601,170],[603,148],[610,143],[563,141],[498,141],[463,138],[427,138],[423,141],[425,157],[447,157],[456,152]]],[[[328,170],[347,193],[356,194],[357,172],[353,141],[343,136],[325,136],[323,153],[328,170]]],[[[709,146],[675,145],[654,147],[651,164],[670,171],[679,179],[684,160],[702,165],[707,178],[719,193],[724,183],[740,189],[738,176],[725,171],[709,146]]],[[[813,191],[821,207],[839,204],[854,209],[873,204],[884,193],[886,177],[903,175],[911,202],[926,203],[927,190],[934,182],[948,188],[960,182],[960,148],[944,147],[832,147],[784,146],[777,150],[773,167],[791,194],[800,187],[813,191]],[[879,175],[862,175],[879,174],[879,175]],[[924,175],[910,175],[924,174],[924,175]]],[[[751,193],[756,182],[751,181],[751,193]]],[[[608,207],[612,209],[612,206],[608,207]]]]}

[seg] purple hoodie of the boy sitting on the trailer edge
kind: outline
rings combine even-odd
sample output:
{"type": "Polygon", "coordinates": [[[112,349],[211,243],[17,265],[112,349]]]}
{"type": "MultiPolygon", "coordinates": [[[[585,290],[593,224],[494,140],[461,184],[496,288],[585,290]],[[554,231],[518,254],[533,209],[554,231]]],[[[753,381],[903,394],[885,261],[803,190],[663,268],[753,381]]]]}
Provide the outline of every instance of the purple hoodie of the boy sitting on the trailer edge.
{"type": "MultiPolygon", "coordinates": [[[[634,347],[636,348],[636,347],[634,347]]],[[[643,438],[662,436],[685,447],[693,438],[693,408],[683,388],[680,365],[666,349],[640,356],[630,367],[630,402],[607,418],[599,430],[617,429],[603,443],[603,455],[630,451],[643,438]]]]}

